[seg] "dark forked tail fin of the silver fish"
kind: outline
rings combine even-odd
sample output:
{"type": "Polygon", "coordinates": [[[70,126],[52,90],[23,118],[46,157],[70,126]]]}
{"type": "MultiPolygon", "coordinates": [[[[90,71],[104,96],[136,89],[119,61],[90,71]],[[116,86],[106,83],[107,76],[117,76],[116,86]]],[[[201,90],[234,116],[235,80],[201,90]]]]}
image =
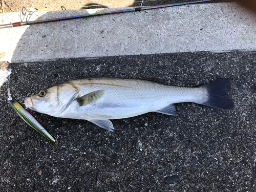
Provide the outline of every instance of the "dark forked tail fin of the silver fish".
{"type": "Polygon", "coordinates": [[[231,110],[234,106],[232,99],[227,96],[231,88],[231,79],[222,78],[205,84],[203,87],[207,89],[208,100],[200,103],[224,110],[231,110]]]}

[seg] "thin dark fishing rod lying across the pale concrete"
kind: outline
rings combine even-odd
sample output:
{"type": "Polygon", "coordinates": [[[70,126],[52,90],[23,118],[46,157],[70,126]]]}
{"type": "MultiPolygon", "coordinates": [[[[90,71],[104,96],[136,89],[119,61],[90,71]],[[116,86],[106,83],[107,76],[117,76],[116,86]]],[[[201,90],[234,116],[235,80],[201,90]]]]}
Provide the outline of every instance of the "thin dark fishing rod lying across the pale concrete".
{"type": "Polygon", "coordinates": [[[133,8],[133,9],[124,9],[124,10],[118,10],[118,11],[108,11],[108,12],[77,15],[77,16],[70,16],[70,17],[59,17],[59,18],[50,18],[50,19],[42,19],[42,20],[33,20],[30,22],[29,21],[16,22],[16,23],[11,23],[11,24],[0,25],[0,29],[11,28],[11,27],[20,27],[20,26],[26,26],[26,25],[35,25],[35,24],[45,24],[45,23],[50,23],[50,22],[59,22],[61,20],[87,18],[87,17],[99,16],[99,15],[110,15],[110,14],[125,13],[125,12],[143,11],[143,10],[148,10],[148,9],[173,7],[173,6],[179,6],[179,5],[196,4],[196,3],[211,2],[211,1],[213,1],[213,0],[200,0],[200,1],[194,1],[194,2],[183,2],[183,3],[175,3],[175,4],[167,4],[167,5],[157,5],[157,6],[151,6],[151,7],[137,7],[137,8],[133,8]]]}

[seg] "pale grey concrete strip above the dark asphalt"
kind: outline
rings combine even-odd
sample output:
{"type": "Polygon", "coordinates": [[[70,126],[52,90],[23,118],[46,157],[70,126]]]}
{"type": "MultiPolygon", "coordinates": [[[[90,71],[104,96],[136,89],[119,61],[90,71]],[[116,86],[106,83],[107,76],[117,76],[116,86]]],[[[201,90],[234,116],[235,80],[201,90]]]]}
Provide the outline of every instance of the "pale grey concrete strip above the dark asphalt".
{"type": "MultiPolygon", "coordinates": [[[[101,11],[110,10],[113,9],[101,11]]],[[[31,20],[87,13],[88,10],[36,12],[31,20]]],[[[18,15],[0,14],[0,24],[18,22],[18,15]]],[[[1,29],[0,61],[254,51],[254,16],[235,3],[197,4],[1,29]]]]}

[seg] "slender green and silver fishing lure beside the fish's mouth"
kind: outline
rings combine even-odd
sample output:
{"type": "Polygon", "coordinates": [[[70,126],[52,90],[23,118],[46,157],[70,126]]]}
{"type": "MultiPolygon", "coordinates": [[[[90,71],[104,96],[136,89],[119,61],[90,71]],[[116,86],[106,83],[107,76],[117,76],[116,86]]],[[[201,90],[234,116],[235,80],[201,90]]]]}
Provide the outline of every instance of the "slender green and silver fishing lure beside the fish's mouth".
{"type": "Polygon", "coordinates": [[[12,109],[17,112],[20,118],[22,118],[29,126],[31,126],[34,130],[39,132],[42,136],[49,139],[53,143],[56,142],[56,140],[46,131],[46,129],[21,105],[16,101],[10,93],[10,90],[8,88],[8,97],[7,100],[12,106],[12,109]]]}

